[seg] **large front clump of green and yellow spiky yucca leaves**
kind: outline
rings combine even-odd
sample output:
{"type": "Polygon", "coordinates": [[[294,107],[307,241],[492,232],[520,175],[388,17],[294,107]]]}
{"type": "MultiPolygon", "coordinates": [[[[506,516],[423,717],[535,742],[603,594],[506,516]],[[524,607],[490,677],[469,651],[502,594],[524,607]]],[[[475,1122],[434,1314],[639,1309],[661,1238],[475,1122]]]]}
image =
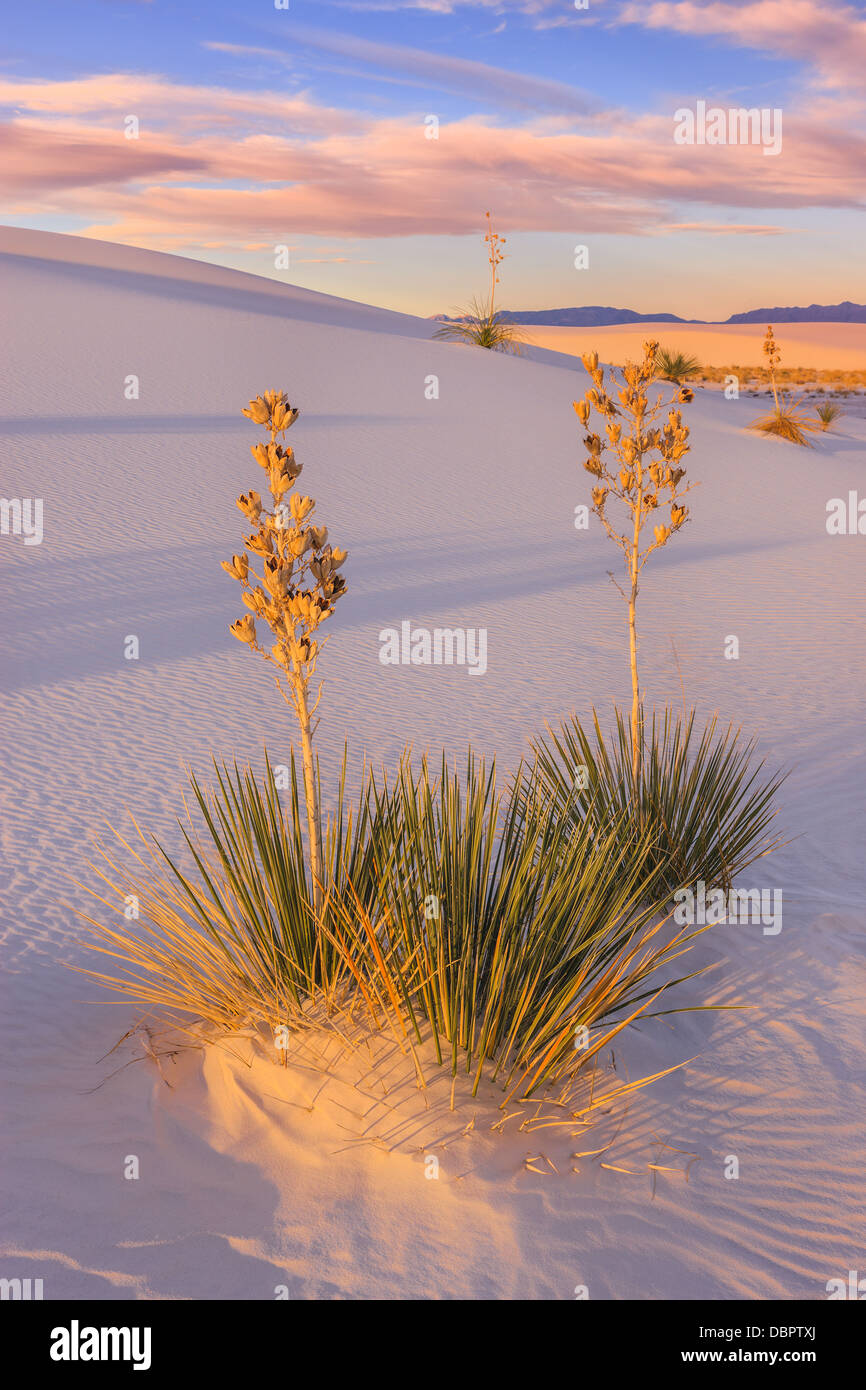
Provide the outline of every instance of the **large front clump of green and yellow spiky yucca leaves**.
{"type": "Polygon", "coordinates": [[[435,778],[403,759],[392,788],[366,783],[353,817],[341,787],[320,909],[295,784],[284,810],[270,771],[263,790],[218,769],[193,798],[193,869],[158,845],[132,851],[133,872],[106,858],[121,920],[88,919],[121,966],[89,973],[164,1022],[388,1026],[416,1063],[432,1038],[475,1090],[487,1076],[506,1099],[574,1098],[601,1049],[678,983],[669,965],[698,934],[660,910],[651,834],[631,815],[574,821],[531,769],[503,792],[471,755],[464,776],[443,760],[435,778]]]}

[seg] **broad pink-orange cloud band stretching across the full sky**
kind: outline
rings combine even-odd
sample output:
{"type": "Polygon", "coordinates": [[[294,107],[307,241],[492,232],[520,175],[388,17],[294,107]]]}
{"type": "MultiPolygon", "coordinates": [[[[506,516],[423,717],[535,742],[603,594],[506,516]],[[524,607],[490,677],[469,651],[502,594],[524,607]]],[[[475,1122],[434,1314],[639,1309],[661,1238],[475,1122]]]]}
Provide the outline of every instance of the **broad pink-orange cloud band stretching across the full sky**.
{"type": "Polygon", "coordinates": [[[674,145],[673,111],[582,122],[581,133],[550,118],[509,126],[467,118],[430,140],[420,114],[371,118],[306,99],[278,101],[284,117],[267,129],[239,131],[257,93],[203,89],[195,101],[196,90],[145,79],[138,93],[121,92],[114,76],[0,83],[10,104],[26,111],[33,103],[32,114],[0,126],[7,207],[17,217],[74,213],[89,220],[89,235],[177,249],[295,234],[464,235],[491,203],[513,231],[577,240],[720,231],[719,206],[862,206],[866,140],[845,129],[844,106],[828,99],[817,113],[785,113],[783,152],[766,158],[759,146],[674,145]],[[139,118],[150,110],[142,96],[153,103],[154,128],[145,118],[140,139],[126,140],[120,115],[135,110],[136,95],[139,118]],[[712,207],[713,221],[684,221],[683,204],[712,207]]]}

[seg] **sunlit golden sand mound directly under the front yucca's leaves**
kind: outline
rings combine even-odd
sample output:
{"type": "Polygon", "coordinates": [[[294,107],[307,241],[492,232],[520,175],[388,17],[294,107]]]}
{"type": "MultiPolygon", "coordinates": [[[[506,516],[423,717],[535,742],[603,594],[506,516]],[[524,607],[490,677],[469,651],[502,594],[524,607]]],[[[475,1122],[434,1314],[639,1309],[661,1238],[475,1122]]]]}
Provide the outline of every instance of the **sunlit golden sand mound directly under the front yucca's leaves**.
{"type": "Polygon", "coordinates": [[[334,1030],[292,1033],[278,1054],[264,1034],[250,1031],[203,1051],[163,1054],[160,1068],[171,1090],[197,1073],[214,1116],[238,1138],[250,1127],[281,1129],[286,1113],[279,1106],[288,1106],[313,1118],[317,1143],[331,1156],[368,1147],[423,1166],[428,1182],[524,1168],[545,1176],[580,1172],[588,1136],[596,1152],[599,1136],[627,1111],[614,1094],[621,1077],[609,1062],[567,1101],[556,1087],[525,1098],[488,1076],[489,1066],[477,1084],[464,1068],[453,1076],[450,1058],[439,1061],[430,1037],[409,1051],[386,1033],[354,1033],[350,1042],[343,1030],[339,1037],[334,1030]]]}

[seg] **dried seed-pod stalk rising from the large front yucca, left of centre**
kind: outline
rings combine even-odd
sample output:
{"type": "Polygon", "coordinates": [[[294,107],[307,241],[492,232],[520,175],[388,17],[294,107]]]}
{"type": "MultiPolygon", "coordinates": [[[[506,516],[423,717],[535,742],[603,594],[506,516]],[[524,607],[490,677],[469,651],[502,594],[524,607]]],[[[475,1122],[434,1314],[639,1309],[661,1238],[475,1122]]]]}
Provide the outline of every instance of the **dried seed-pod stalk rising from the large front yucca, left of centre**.
{"type": "Polygon", "coordinates": [[[275,667],[277,688],[297,716],[313,902],[318,910],[322,902],[322,838],[318,778],[313,760],[317,724],[313,724],[313,719],[322,687],[320,682],[316,699],[310,703],[310,685],[324,645],[316,632],[346,592],[346,581],[338,574],[346,550],[332,549],[328,545],[328,528],[311,524],[316,510],[313,498],[296,492],[288,496],[302,464],[296,461],[293,449],[281,442],[299,416],[285,392],[265,391],[263,396],[250,400],[243,414],[254,424],[264,425],[270,435],[267,443],[250,445],[250,452],[267,475],[271,507],[265,507],[259,492],[252,489],[238,498],[239,509],[254,530],[245,537],[245,553],[224,560],[222,569],[240,584],[243,602],[250,613],[232,623],[231,631],[275,667]],[[253,563],[260,563],[261,575],[252,569],[250,557],[253,563]],[[271,630],[274,642],[270,648],[259,645],[257,617],[271,630]]]}

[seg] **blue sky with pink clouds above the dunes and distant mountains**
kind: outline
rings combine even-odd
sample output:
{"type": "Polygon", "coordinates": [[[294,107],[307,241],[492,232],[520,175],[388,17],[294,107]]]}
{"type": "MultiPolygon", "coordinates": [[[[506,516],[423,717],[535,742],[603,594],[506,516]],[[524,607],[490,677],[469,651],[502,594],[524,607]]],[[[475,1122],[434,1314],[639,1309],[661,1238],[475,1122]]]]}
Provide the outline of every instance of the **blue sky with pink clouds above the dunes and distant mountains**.
{"type": "Polygon", "coordinates": [[[430,316],[485,293],[491,210],[500,307],[866,302],[866,4],[26,0],[4,31],[7,225],[430,316]],[[699,103],[776,125],[688,143],[699,103]]]}

